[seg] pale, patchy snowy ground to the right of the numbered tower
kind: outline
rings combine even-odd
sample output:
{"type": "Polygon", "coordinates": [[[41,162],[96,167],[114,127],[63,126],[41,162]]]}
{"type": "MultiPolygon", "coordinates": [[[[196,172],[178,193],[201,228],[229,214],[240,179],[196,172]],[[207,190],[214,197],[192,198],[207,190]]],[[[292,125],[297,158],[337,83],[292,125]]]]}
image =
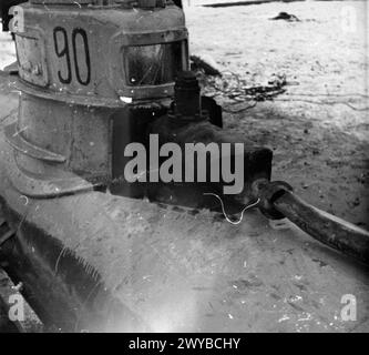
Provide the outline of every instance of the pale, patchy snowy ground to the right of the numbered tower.
{"type": "MultiPolygon", "coordinates": [[[[186,19],[192,52],[211,55],[225,73],[253,83],[287,78],[285,94],[226,114],[226,126],[274,150],[274,179],[368,227],[368,3],[189,7],[186,19]],[[280,11],[300,21],[269,20],[280,11]]],[[[233,111],[250,105],[219,101],[233,111]]]]}

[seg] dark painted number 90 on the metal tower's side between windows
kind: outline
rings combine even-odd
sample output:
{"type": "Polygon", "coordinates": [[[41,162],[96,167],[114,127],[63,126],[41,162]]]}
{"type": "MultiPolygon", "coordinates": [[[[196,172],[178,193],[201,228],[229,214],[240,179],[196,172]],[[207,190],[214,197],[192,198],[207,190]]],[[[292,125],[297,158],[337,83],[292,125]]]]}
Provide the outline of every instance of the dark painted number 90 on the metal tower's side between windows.
{"type": "Polygon", "coordinates": [[[73,29],[71,34],[72,55],[69,36],[64,28],[55,27],[53,30],[53,39],[55,54],[61,59],[58,70],[60,82],[70,84],[73,80],[72,69],[74,69],[76,81],[81,85],[88,85],[91,80],[91,61],[86,32],[81,28],[73,29]],[[71,57],[73,57],[73,65],[71,57]]]}

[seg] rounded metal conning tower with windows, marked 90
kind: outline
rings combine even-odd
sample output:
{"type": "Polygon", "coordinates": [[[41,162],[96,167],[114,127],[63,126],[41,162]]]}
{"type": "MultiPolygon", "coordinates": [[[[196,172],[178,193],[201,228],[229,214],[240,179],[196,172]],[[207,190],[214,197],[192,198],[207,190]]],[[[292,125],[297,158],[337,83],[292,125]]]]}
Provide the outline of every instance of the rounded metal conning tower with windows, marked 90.
{"type": "MultiPolygon", "coordinates": [[[[134,106],[170,105],[188,70],[184,13],[165,0],[30,0],[13,8],[19,112],[6,128],[9,179],[23,194],[68,194],[113,179],[114,125],[136,139],[134,106]]],[[[116,145],[116,144],[115,144],[116,145]]],[[[122,144],[117,144],[122,146],[122,144]]]]}

